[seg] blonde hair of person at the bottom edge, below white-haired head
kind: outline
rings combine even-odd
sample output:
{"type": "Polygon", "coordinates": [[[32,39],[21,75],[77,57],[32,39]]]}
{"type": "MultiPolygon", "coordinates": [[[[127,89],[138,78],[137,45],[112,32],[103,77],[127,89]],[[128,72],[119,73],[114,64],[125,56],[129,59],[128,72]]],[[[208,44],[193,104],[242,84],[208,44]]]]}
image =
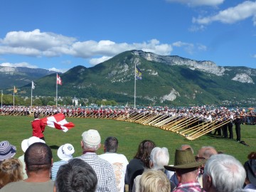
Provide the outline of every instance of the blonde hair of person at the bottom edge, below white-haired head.
{"type": "Polygon", "coordinates": [[[170,192],[171,183],[163,171],[145,170],[139,180],[139,192],[170,192]]]}

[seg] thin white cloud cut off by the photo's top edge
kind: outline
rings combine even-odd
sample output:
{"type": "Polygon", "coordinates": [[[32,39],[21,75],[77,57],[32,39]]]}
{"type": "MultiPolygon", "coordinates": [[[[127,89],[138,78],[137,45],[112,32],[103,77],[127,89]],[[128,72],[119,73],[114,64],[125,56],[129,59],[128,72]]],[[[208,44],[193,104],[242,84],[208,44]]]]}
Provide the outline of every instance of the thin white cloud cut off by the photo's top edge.
{"type": "Polygon", "coordinates": [[[186,4],[188,6],[218,6],[219,4],[223,4],[225,0],[166,0],[166,1],[186,4]]]}

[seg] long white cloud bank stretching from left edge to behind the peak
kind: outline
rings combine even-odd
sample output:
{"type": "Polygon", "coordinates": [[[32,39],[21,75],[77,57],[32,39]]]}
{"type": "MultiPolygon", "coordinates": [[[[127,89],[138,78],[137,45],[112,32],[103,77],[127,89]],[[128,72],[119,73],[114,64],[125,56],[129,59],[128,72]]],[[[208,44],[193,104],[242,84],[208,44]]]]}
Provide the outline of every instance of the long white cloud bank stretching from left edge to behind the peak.
{"type": "Polygon", "coordinates": [[[110,40],[76,41],[55,33],[34,31],[11,31],[0,40],[0,54],[27,55],[33,57],[58,57],[72,55],[78,58],[95,58],[90,62],[103,61],[126,50],[144,50],[159,55],[170,55],[170,44],[152,39],[142,43],[116,43],[110,40]]]}

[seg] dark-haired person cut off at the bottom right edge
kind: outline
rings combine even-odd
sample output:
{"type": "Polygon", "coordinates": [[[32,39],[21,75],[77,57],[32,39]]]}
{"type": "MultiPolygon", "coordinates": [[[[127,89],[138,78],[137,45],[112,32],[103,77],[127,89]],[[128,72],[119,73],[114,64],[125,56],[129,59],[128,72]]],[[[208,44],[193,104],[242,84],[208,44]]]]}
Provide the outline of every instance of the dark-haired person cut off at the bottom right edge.
{"type": "Polygon", "coordinates": [[[246,178],[243,191],[256,191],[256,159],[250,159],[244,164],[246,178]]]}

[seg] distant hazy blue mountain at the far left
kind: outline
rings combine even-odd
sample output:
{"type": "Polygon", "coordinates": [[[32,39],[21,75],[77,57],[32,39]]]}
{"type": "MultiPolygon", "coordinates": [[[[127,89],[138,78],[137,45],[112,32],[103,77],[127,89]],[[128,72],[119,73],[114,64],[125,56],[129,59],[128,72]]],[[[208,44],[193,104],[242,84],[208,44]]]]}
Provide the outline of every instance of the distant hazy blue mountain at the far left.
{"type": "Polygon", "coordinates": [[[21,87],[26,85],[31,80],[43,78],[46,75],[56,73],[55,71],[45,70],[40,68],[13,68],[0,66],[0,87],[6,89],[9,87],[21,87]]]}

